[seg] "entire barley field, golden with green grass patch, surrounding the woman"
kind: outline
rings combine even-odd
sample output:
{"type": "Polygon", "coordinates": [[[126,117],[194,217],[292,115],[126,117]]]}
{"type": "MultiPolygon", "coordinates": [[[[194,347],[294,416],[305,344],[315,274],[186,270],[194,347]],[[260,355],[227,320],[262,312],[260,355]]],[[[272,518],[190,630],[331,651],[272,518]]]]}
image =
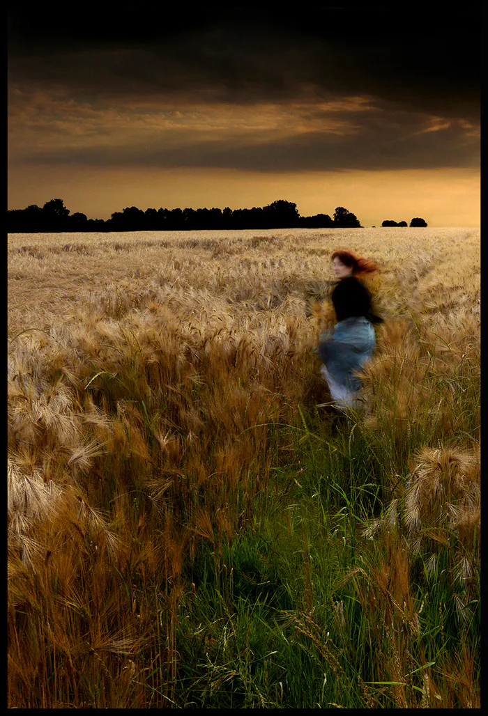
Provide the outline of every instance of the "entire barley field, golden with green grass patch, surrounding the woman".
{"type": "Polygon", "coordinates": [[[8,707],[480,707],[479,251],[9,235],[8,707]],[[335,248],[385,319],[345,417],[335,248]]]}

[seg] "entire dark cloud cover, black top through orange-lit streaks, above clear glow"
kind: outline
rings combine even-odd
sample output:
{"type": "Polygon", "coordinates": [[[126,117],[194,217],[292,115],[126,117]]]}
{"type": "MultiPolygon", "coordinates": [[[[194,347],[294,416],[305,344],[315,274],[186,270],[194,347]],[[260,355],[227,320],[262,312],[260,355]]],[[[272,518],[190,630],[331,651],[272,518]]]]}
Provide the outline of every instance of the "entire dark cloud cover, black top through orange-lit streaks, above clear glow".
{"type": "Polygon", "coordinates": [[[9,167],[475,171],[479,15],[10,9],[9,167]]]}

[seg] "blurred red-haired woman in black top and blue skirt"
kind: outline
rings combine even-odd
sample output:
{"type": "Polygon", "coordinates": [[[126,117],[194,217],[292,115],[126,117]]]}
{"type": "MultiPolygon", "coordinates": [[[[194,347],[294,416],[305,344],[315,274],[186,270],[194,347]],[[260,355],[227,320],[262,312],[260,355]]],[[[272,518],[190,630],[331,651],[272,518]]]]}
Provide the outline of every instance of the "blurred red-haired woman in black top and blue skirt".
{"type": "Polygon", "coordinates": [[[357,407],[361,382],[355,372],[375,349],[373,323],[383,322],[371,313],[371,294],[360,277],[377,271],[378,266],[343,249],[334,251],[330,258],[339,279],[331,296],[338,322],[334,329],[320,335],[320,371],[338,407],[357,407]]]}

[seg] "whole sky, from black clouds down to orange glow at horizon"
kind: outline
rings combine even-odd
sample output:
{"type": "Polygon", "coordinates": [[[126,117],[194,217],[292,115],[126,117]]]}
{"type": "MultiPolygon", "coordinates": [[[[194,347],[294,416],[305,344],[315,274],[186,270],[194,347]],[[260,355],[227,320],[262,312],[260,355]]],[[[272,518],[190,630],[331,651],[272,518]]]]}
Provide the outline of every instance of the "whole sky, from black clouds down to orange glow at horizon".
{"type": "Polygon", "coordinates": [[[479,4],[110,5],[9,11],[9,208],[479,226],[479,4]]]}

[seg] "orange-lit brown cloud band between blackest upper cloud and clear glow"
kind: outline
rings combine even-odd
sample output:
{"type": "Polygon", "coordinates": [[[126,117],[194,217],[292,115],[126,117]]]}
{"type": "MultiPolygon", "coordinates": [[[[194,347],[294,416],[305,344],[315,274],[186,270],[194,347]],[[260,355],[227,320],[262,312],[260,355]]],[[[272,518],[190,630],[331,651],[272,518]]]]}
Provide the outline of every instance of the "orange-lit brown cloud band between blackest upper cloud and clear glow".
{"type": "MultiPolygon", "coordinates": [[[[45,100],[44,100],[45,101],[45,100]]],[[[174,100],[173,100],[174,101],[174,100]]],[[[42,102],[42,100],[41,100],[42,102]]],[[[259,172],[476,167],[479,131],[466,120],[350,97],[231,108],[93,110],[53,102],[49,119],[19,119],[17,163],[235,168],[259,172]],[[30,133],[29,133],[30,132],[30,133]],[[31,136],[42,142],[35,146],[31,136]]],[[[44,107],[46,105],[44,104],[44,107]]]]}

